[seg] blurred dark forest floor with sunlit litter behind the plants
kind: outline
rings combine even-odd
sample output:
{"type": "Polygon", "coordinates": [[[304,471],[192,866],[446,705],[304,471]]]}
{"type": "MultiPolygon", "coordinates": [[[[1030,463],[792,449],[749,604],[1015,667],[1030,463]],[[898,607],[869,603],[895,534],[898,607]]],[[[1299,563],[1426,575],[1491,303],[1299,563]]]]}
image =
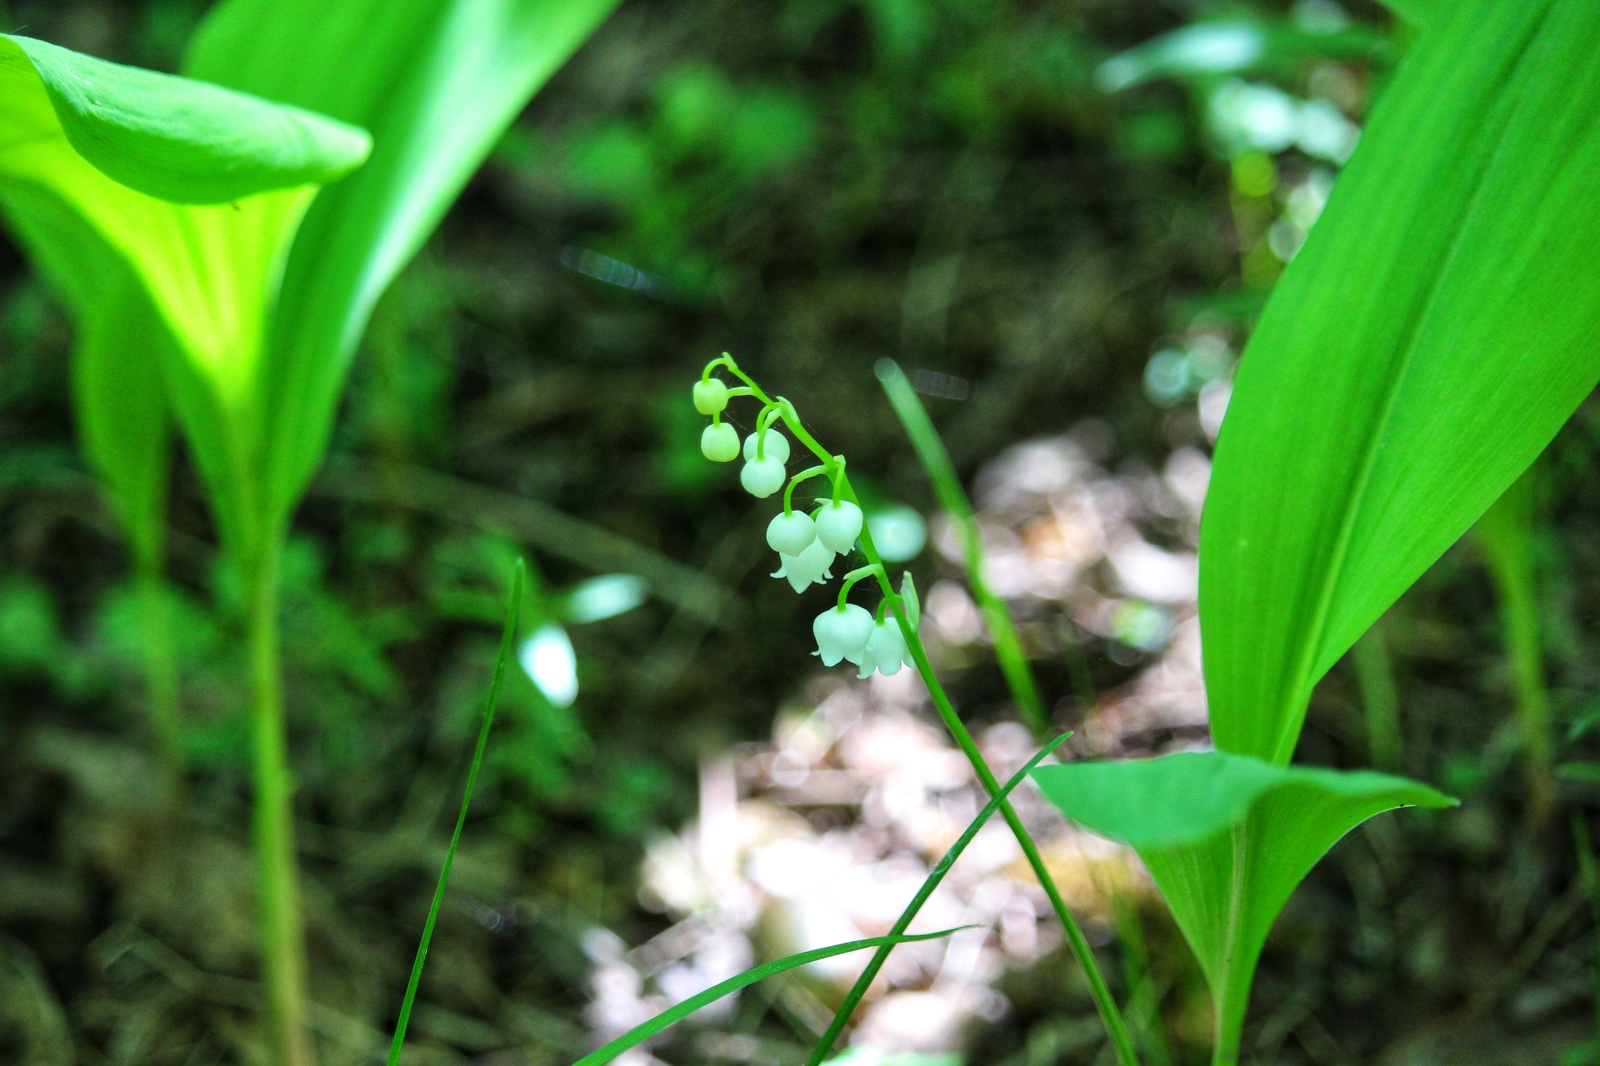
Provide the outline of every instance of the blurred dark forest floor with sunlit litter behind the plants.
{"type": "MultiPolygon", "coordinates": [[[[30,35],[173,69],[203,5],[8,8],[30,35]]],[[[904,507],[928,517],[907,565],[997,768],[1030,739],[878,389],[883,357],[973,488],[992,584],[1074,749],[1205,741],[1192,568],[1227,379],[1395,43],[1365,3],[1235,11],[1330,43],[1109,94],[1096,69],[1189,5],[635,0],[541,93],[381,304],[285,563],[328,1063],[381,1061],[518,554],[536,575],[526,627],[565,619],[579,687],[570,703],[526,675],[507,690],[406,1061],[571,1061],[718,968],[877,932],[870,908],[786,914],[782,871],[880,871],[898,908],[976,812],[909,679],[848,682],[808,655],[827,594],[766,576],[770,511],[698,450],[690,383],[722,351],[850,456],[910,541],[904,507]],[[1283,115],[1299,126],[1272,126],[1283,115]],[[578,610],[574,589],[619,587],[579,584],[600,575],[651,595],[578,610]],[[683,890],[674,871],[704,868],[718,832],[731,880],[683,890]]],[[[126,559],[74,443],[69,347],[0,240],[0,1061],[262,1063],[238,591],[181,472],[192,775],[170,810],[126,559]]],[[[1248,1061],[1592,1061],[1595,928],[1568,816],[1600,799],[1584,779],[1600,719],[1595,415],[1552,447],[1534,536],[1576,767],[1562,808],[1544,824],[1525,812],[1498,605],[1469,539],[1382,624],[1400,765],[1464,807],[1378,820],[1317,868],[1269,943],[1248,1061]]],[[[1304,762],[1370,763],[1381,675],[1334,669],[1304,762]]],[[[1200,976],[1136,864],[1029,818],[1118,996],[1162,1034],[1149,1061],[1203,1061],[1200,976]]],[[[958,959],[912,952],[890,976],[922,999],[858,1036],[902,1050],[920,1032],[974,1066],[1109,1061],[1082,978],[994,847],[949,906],[995,932],[958,959]]],[[[752,991],[654,1053],[798,1063],[830,996],[827,973],[752,991]]]]}

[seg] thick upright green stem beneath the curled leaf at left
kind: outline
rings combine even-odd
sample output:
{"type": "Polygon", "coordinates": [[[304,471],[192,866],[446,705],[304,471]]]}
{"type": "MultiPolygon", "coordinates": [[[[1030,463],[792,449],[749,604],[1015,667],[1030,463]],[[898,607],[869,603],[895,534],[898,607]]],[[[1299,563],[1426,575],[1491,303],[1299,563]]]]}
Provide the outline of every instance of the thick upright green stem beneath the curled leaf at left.
{"type": "Polygon", "coordinates": [[[312,1066],[306,1032],[306,930],[294,850],[294,783],[288,765],[278,663],[278,539],[245,563],[254,755],[256,906],[267,1024],[280,1066],[312,1066]]]}

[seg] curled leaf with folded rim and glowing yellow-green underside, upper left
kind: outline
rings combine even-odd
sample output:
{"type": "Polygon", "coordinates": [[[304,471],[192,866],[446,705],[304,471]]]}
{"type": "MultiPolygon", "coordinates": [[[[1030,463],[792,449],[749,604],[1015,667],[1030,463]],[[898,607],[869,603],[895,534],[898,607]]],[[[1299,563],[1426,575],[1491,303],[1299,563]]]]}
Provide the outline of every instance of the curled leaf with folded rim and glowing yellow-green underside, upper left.
{"type": "Polygon", "coordinates": [[[237,491],[221,426],[242,421],[286,238],[366,136],[24,37],[0,37],[0,202],[77,312],[85,440],[149,552],[166,450],[152,365],[178,355],[163,373],[210,439],[202,469],[237,491]]]}

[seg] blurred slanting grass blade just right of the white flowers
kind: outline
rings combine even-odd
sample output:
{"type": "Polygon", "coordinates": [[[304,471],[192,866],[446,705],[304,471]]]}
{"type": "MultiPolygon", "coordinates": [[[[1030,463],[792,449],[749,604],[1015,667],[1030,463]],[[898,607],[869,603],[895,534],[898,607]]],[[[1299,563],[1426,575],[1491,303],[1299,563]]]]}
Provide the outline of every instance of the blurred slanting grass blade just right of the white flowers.
{"type": "Polygon", "coordinates": [[[1022,722],[1035,736],[1042,736],[1050,730],[1050,715],[1045,714],[1045,703],[1038,696],[1038,685],[1027,664],[1022,640],[1016,635],[1011,613],[984,581],[982,536],[979,536],[978,522],[973,519],[973,504],[966,499],[962,479],[957,477],[955,466],[950,463],[950,453],[944,450],[939,431],[933,427],[933,419],[928,418],[926,408],[917,399],[917,391],[910,387],[910,381],[906,379],[899,365],[891,359],[880,359],[875,370],[878,383],[883,384],[883,394],[901,419],[906,437],[910,439],[910,445],[917,451],[917,459],[922,461],[922,469],[933,482],[939,506],[955,522],[962,536],[966,583],[973,589],[973,599],[978,600],[978,610],[982,611],[984,624],[989,626],[989,635],[995,642],[995,658],[1000,661],[1006,688],[1011,690],[1011,698],[1016,699],[1016,706],[1022,712],[1022,722]]]}

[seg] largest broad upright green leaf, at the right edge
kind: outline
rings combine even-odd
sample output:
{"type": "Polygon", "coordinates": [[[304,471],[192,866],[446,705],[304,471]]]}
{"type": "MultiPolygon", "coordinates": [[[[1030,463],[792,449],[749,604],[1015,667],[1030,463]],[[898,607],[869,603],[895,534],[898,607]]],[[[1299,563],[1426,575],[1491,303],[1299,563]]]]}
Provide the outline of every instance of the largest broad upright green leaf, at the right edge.
{"type": "Polygon", "coordinates": [[[1245,352],[1200,538],[1218,747],[1312,685],[1600,378],[1600,5],[1442,5],[1245,352]]]}

